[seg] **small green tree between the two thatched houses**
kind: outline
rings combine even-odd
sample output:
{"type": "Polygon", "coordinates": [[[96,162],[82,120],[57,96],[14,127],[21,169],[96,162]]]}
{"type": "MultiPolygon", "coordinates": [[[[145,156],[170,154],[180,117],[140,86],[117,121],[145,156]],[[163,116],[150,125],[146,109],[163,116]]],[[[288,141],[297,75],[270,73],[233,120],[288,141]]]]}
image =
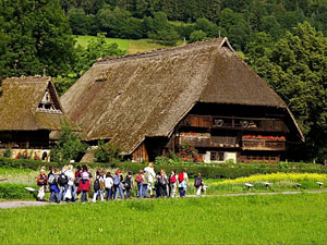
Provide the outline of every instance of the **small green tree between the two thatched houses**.
{"type": "Polygon", "coordinates": [[[78,134],[73,132],[68,122],[61,124],[60,139],[51,149],[51,161],[68,162],[70,160],[78,161],[86,152],[87,145],[82,143],[78,134]]]}

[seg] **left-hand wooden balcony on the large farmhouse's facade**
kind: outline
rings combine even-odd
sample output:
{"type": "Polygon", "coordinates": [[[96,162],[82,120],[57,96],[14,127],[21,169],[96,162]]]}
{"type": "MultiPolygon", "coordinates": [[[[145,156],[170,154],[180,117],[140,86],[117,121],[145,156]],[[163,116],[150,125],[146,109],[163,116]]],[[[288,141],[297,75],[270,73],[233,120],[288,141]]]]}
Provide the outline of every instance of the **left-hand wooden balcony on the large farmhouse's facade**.
{"type": "Polygon", "coordinates": [[[203,148],[238,148],[237,137],[221,136],[179,136],[180,145],[203,148]]]}

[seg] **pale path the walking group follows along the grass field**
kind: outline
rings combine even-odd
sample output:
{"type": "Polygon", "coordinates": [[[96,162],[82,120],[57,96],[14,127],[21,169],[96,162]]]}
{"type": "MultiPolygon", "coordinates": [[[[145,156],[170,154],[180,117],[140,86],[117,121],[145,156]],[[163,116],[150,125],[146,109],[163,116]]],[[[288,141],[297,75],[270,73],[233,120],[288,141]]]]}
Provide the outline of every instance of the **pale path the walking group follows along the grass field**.
{"type": "MultiPolygon", "coordinates": [[[[327,193],[327,189],[319,191],[308,191],[308,192],[276,192],[276,193],[230,193],[230,194],[219,194],[219,195],[202,195],[199,197],[213,197],[213,196],[256,196],[256,195],[295,195],[302,193],[318,194],[327,193]]],[[[198,197],[196,195],[187,195],[186,197],[198,197]]],[[[13,200],[13,201],[0,201],[0,209],[5,208],[21,208],[21,207],[36,207],[51,205],[47,201],[35,201],[35,200],[13,200]]]]}

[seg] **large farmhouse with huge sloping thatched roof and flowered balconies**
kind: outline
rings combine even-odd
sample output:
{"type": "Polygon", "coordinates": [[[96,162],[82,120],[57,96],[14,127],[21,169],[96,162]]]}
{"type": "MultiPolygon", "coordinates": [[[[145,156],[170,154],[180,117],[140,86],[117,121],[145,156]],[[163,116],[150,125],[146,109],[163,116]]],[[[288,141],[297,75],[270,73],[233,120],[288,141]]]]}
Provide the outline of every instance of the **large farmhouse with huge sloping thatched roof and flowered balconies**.
{"type": "Polygon", "coordinates": [[[134,161],[187,145],[198,160],[279,161],[303,135],[287,105],[227,38],[96,62],[62,97],[89,143],[134,161]]]}

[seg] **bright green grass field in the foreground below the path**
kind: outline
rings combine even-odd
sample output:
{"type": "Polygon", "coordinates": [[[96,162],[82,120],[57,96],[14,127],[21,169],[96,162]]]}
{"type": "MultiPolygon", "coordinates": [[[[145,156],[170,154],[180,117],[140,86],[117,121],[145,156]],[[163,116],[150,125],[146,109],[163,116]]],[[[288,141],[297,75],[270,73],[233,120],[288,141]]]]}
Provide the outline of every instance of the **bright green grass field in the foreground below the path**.
{"type": "Polygon", "coordinates": [[[326,244],[327,194],[0,210],[1,244],[326,244]]]}

